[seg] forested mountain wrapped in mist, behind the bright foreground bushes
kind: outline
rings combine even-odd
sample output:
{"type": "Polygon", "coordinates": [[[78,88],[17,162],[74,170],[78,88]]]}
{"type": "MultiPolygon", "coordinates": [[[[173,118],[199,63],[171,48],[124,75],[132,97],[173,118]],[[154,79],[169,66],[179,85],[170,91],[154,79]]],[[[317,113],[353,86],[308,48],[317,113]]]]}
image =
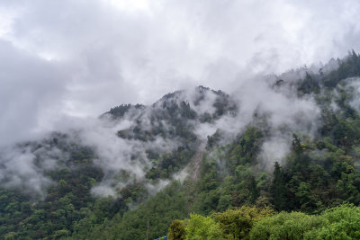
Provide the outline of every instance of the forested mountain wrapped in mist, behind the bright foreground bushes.
{"type": "Polygon", "coordinates": [[[156,238],[175,219],[190,219],[186,231],[195,218],[215,226],[231,208],[312,218],[358,206],[359,76],[353,51],[231,94],[198,86],[121,104],[81,128],[1,149],[0,237],[156,238]]]}

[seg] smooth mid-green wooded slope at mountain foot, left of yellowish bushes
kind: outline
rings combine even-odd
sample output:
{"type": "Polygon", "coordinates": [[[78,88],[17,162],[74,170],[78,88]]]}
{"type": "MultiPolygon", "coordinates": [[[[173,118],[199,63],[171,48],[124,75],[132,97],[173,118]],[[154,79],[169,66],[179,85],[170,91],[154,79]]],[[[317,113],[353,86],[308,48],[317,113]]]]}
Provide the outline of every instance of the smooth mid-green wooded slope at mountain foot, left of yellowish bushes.
{"type": "MultiPolygon", "coordinates": [[[[145,239],[149,226],[150,239],[166,236],[169,225],[176,218],[187,215],[184,193],[179,191],[179,182],[173,182],[164,191],[159,191],[152,199],[111,220],[97,223],[94,218],[80,221],[72,239],[145,239]],[[84,231],[84,227],[87,231],[84,231]]],[[[106,210],[103,210],[106,213],[106,210]]]]}

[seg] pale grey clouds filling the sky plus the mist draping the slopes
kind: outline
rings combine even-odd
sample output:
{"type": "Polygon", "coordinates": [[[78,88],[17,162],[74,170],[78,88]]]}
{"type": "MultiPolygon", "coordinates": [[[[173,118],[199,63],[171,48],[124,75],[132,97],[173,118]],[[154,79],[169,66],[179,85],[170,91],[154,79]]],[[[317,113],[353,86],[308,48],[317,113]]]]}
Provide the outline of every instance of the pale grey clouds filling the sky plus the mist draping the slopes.
{"type": "MultiPolygon", "coordinates": [[[[166,153],[179,139],[144,143],[118,138],[117,131],[135,120],[149,128],[158,107],[151,104],[176,90],[184,89],[178,101],[197,114],[213,114],[216,94],[195,104],[197,85],[229,93],[237,106],[236,114],[211,122],[189,121],[197,137],[205,141],[221,129],[223,144],[229,143],[260,115],[271,131],[260,154],[269,169],[284,159],[293,132],[316,134],[320,110],[313,96],[299,98],[291,83],[306,71],[334,69],[336,60],[325,64],[330,58],[360,50],[359,10],[355,0],[0,1],[1,181],[41,193],[51,184],[44,171],[66,156],[39,164],[29,149],[14,144],[51,131],[71,136],[74,129],[76,141],[94,147],[94,164],[105,174],[94,194],[113,194],[126,184],[113,182],[121,170],[141,181],[151,167],[145,150],[166,153]],[[275,89],[276,79],[286,84],[275,89]],[[121,103],[148,107],[122,120],[98,118],[121,103]]],[[[173,178],[184,175],[180,170],[173,178]]],[[[160,189],[166,182],[148,184],[160,189]]]]}

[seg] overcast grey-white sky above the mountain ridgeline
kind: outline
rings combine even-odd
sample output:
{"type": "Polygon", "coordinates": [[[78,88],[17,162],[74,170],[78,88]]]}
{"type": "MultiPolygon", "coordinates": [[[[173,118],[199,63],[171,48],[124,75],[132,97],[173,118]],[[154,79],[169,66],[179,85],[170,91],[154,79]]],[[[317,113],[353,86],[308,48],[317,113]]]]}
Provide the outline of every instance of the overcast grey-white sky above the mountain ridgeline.
{"type": "Polygon", "coordinates": [[[360,50],[358,0],[0,0],[0,145],[360,50]]]}

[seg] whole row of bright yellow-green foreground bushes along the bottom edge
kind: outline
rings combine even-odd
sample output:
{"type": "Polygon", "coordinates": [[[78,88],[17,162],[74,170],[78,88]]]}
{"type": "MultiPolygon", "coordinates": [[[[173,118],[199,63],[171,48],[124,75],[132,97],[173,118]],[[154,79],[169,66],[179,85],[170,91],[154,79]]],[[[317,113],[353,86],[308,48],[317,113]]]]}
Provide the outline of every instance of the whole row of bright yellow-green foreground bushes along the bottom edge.
{"type": "Polygon", "coordinates": [[[212,218],[191,214],[173,224],[170,228],[182,229],[181,239],[358,239],[360,207],[343,204],[320,215],[242,207],[212,218]]]}

